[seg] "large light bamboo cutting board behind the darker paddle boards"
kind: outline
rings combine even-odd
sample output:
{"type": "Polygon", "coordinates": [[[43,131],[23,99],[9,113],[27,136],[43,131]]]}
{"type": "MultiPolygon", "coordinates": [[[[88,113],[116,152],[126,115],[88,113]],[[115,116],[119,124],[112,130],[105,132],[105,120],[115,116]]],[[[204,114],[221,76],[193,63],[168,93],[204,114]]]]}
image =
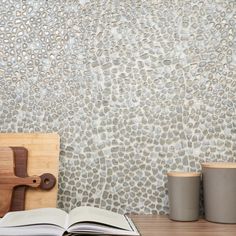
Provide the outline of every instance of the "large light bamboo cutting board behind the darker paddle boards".
{"type": "MultiPolygon", "coordinates": [[[[52,173],[58,179],[60,138],[55,133],[0,133],[0,146],[28,150],[29,176],[52,173]]],[[[50,190],[27,189],[25,209],[56,207],[58,185],[50,190]]]]}

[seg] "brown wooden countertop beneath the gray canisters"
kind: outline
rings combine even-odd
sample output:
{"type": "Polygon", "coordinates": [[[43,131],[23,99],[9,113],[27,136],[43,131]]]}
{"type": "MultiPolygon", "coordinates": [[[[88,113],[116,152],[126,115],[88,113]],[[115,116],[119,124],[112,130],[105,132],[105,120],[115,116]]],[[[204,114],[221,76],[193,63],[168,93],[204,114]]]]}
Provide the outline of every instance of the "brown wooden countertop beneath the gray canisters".
{"type": "Polygon", "coordinates": [[[216,224],[200,219],[177,222],[168,216],[132,215],[142,236],[236,236],[236,224],[216,224]]]}

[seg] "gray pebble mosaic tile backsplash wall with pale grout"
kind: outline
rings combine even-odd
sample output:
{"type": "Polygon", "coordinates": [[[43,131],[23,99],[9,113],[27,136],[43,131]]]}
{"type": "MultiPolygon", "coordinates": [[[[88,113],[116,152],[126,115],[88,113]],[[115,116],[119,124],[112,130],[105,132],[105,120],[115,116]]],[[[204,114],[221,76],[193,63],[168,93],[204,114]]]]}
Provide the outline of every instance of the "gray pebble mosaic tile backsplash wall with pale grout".
{"type": "Polygon", "coordinates": [[[168,213],[166,172],[236,161],[236,2],[0,0],[0,130],[58,132],[58,207],[168,213]]]}

